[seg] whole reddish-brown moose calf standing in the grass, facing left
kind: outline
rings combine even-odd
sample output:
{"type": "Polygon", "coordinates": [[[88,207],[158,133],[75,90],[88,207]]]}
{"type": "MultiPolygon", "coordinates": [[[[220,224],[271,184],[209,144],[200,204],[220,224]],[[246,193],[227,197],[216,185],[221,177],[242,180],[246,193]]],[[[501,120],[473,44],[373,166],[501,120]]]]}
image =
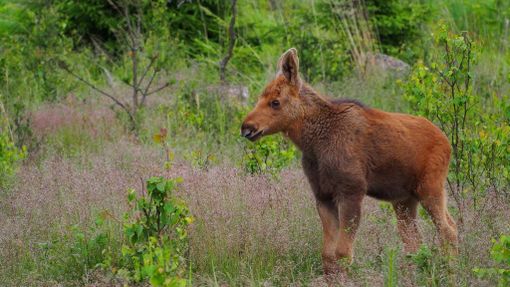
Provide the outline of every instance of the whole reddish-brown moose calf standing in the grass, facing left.
{"type": "Polygon", "coordinates": [[[444,189],[451,149],[441,130],[422,117],[323,98],[299,78],[295,49],[281,57],[278,67],[246,117],[242,134],[256,140],[282,132],[301,149],[323,225],[325,273],[339,271],[339,259],[352,260],[367,195],[393,204],[406,251],[420,244],[418,203],[432,217],[442,242],[456,246],[444,189]]]}

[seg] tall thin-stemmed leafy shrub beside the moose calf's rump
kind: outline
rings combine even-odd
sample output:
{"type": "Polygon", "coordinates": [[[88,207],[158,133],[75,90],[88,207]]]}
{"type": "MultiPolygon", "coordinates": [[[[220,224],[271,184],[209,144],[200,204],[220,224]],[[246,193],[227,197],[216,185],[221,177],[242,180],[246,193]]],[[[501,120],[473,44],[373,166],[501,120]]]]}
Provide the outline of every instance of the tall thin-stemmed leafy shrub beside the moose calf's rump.
{"type": "Polygon", "coordinates": [[[415,113],[434,121],[449,138],[452,160],[448,185],[462,220],[468,196],[477,207],[477,199],[488,187],[498,190],[507,182],[505,154],[510,130],[504,117],[491,113],[473,93],[474,49],[467,33],[453,34],[441,26],[435,40],[440,48],[436,61],[415,66],[405,85],[405,99],[415,113]],[[496,177],[495,173],[504,176],[496,177]]]}

